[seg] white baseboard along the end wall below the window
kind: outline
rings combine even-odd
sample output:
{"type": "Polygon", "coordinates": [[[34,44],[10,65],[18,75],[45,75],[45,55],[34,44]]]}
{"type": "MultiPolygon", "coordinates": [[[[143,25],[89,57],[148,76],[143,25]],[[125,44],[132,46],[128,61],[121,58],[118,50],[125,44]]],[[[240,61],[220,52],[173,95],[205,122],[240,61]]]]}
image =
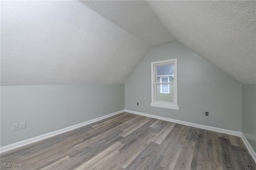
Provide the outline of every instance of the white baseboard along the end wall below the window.
{"type": "Polygon", "coordinates": [[[202,129],[211,130],[211,131],[214,131],[214,132],[230,134],[230,135],[233,135],[233,136],[241,137],[241,134],[242,134],[242,132],[236,132],[236,131],[233,131],[233,130],[227,130],[227,129],[223,129],[223,128],[216,128],[216,127],[210,127],[210,126],[200,125],[200,124],[196,124],[196,123],[179,121],[179,120],[176,120],[176,119],[170,119],[170,118],[166,118],[166,117],[160,117],[160,116],[156,116],[156,115],[150,115],[150,114],[136,112],[136,111],[130,111],[130,110],[126,110],[126,109],[124,111],[128,112],[128,113],[133,113],[133,114],[136,114],[136,115],[151,117],[151,118],[160,119],[160,120],[163,120],[163,121],[178,123],[178,124],[181,124],[181,125],[187,125],[187,126],[190,126],[190,127],[202,128],[202,129]]]}

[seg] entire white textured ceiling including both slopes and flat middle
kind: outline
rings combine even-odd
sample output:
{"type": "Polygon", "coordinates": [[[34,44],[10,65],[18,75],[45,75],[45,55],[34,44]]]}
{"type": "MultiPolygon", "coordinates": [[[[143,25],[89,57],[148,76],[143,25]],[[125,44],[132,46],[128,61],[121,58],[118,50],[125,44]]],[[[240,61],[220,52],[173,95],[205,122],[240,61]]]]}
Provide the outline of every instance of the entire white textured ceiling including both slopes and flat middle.
{"type": "Polygon", "coordinates": [[[1,1],[1,85],[125,83],[181,42],[256,83],[255,1],[1,1]]]}

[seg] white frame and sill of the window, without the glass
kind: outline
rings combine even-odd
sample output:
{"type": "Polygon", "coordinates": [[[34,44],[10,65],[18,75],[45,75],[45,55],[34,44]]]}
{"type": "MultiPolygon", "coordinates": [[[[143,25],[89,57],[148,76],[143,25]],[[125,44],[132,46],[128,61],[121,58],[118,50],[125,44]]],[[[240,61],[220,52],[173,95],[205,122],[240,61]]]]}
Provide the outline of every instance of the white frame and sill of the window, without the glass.
{"type": "MultiPolygon", "coordinates": [[[[175,109],[175,110],[180,110],[180,106],[178,106],[178,59],[167,59],[167,60],[162,60],[162,61],[154,61],[151,62],[151,103],[150,106],[152,107],[161,107],[161,108],[166,108],[166,109],[175,109]],[[174,64],[174,73],[173,73],[173,83],[157,83],[157,75],[156,75],[156,66],[159,65],[166,65],[166,64],[174,64]],[[173,103],[167,103],[167,102],[157,102],[156,101],[156,85],[157,84],[173,84],[173,103]]],[[[166,75],[165,75],[166,77],[166,75]]]]}

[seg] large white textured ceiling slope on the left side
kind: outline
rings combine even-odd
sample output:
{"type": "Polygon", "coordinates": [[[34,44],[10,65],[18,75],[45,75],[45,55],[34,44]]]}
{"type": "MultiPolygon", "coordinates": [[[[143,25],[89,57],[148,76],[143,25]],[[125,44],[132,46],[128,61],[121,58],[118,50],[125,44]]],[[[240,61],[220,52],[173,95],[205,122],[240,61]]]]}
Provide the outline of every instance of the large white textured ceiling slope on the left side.
{"type": "Polygon", "coordinates": [[[150,45],[79,1],[1,2],[1,85],[124,83],[150,45]]]}

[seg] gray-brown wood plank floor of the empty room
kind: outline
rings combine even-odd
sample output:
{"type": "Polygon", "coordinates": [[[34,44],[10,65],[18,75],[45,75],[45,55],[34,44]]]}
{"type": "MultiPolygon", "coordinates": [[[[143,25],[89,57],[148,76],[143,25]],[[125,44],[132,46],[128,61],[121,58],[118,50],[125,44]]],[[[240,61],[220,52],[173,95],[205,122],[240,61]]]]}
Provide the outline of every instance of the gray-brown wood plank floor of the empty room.
{"type": "MultiPolygon", "coordinates": [[[[1,155],[16,169],[201,170],[256,169],[240,137],[131,113],[1,155]]],[[[1,167],[1,169],[12,169],[1,167]]]]}

